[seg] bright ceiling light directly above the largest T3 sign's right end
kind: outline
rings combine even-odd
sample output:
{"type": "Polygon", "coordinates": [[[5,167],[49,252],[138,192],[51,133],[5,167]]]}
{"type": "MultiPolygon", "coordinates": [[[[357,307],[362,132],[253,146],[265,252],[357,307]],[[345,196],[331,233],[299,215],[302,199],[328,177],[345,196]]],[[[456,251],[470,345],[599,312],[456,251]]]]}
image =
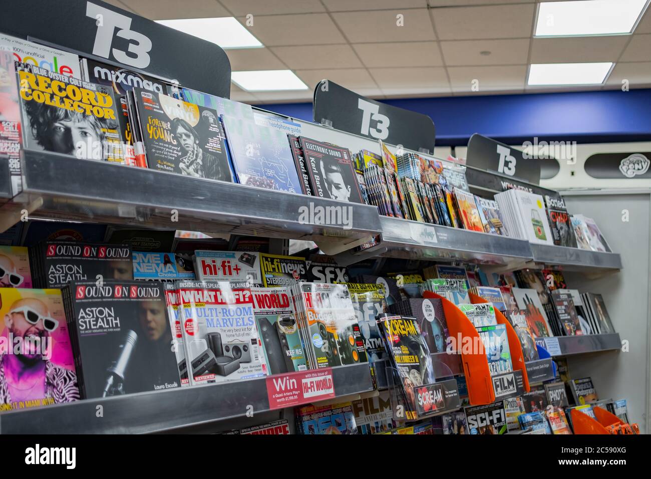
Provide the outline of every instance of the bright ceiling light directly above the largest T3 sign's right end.
{"type": "Polygon", "coordinates": [[[156,20],[156,23],[188,35],[198,36],[221,46],[221,48],[260,48],[264,46],[234,17],[156,20]]]}

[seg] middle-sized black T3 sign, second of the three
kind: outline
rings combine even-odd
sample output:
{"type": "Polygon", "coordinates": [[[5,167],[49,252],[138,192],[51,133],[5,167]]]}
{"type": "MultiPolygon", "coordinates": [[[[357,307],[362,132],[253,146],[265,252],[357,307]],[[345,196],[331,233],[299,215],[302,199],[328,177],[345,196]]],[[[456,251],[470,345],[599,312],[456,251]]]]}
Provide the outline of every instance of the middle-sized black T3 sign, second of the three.
{"type": "Polygon", "coordinates": [[[434,154],[436,128],[430,117],[370,100],[330,80],[320,81],[314,89],[314,121],[327,121],[336,130],[434,154]]]}

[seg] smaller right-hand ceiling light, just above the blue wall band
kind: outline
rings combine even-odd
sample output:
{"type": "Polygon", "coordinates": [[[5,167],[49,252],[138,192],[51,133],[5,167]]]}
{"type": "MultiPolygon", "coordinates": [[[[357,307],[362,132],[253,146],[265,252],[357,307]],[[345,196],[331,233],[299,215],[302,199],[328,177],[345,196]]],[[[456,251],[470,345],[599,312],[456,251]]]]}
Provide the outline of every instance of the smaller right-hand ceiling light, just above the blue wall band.
{"type": "Polygon", "coordinates": [[[601,85],[612,66],[612,62],[533,64],[527,85],[601,85]]]}

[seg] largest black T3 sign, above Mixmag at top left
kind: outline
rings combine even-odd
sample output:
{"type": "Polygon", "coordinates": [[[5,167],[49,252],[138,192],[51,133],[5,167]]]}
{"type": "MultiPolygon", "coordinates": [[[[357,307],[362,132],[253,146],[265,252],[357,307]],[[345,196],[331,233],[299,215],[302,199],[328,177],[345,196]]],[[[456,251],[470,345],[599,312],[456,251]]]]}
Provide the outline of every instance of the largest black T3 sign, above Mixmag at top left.
{"type": "Polygon", "coordinates": [[[230,61],[211,42],[99,0],[3,1],[0,31],[229,98],[230,61]]]}

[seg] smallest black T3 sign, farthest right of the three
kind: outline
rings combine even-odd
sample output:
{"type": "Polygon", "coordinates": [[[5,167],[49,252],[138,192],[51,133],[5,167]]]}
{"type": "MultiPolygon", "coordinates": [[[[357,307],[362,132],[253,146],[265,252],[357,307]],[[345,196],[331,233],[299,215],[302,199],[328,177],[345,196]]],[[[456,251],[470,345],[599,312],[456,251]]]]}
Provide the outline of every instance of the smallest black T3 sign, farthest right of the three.
{"type": "Polygon", "coordinates": [[[514,179],[540,184],[540,163],[523,152],[475,133],[468,141],[465,164],[514,179]]]}

